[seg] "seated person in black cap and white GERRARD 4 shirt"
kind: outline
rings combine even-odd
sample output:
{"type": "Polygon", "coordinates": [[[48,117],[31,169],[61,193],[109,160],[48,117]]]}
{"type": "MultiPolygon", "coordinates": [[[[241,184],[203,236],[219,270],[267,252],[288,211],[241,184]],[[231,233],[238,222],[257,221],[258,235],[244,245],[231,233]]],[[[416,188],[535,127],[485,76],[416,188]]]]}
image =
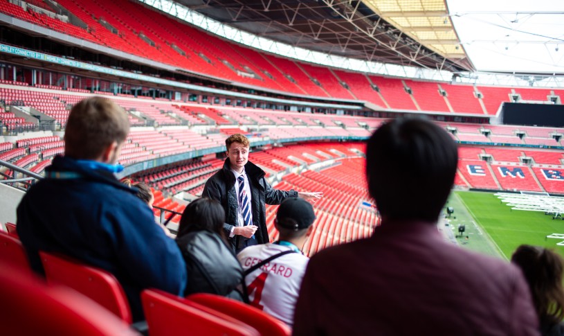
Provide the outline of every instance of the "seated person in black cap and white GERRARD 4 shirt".
{"type": "Polygon", "coordinates": [[[274,222],[280,239],[247,247],[237,254],[246,274],[251,305],[290,326],[309,261],[301,251],[315,219],[311,204],[302,198],[288,198],[280,204],[274,222]]]}

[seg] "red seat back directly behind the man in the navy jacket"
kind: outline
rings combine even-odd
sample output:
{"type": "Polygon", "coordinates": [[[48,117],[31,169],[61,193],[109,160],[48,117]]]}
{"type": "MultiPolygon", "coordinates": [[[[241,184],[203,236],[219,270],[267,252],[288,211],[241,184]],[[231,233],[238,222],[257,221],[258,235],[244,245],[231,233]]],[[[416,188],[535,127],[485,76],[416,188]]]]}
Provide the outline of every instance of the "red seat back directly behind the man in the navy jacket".
{"type": "Polygon", "coordinates": [[[113,274],[66,256],[39,251],[48,284],[73,288],[131,324],[125,292],[113,274]]]}

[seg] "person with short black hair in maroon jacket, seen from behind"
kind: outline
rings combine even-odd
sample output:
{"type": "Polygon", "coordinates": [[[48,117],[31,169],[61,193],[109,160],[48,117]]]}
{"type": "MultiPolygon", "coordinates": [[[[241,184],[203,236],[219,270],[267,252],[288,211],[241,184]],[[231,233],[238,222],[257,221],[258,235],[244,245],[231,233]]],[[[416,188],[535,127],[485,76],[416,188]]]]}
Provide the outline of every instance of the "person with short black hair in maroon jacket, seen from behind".
{"type": "Polygon", "coordinates": [[[421,118],[372,134],[366,176],[381,225],[311,258],[294,335],[538,335],[519,269],[437,230],[457,161],[451,136],[421,118]]]}

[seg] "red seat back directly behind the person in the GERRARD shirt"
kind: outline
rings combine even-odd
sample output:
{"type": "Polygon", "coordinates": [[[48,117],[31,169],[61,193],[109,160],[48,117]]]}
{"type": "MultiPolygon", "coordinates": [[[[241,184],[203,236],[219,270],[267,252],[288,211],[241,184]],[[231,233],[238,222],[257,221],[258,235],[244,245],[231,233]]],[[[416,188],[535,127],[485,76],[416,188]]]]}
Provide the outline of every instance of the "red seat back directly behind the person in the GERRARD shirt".
{"type": "Polygon", "coordinates": [[[192,294],[187,299],[242,321],[257,329],[261,335],[289,336],[292,333],[284,322],[240,301],[208,293],[192,294]]]}

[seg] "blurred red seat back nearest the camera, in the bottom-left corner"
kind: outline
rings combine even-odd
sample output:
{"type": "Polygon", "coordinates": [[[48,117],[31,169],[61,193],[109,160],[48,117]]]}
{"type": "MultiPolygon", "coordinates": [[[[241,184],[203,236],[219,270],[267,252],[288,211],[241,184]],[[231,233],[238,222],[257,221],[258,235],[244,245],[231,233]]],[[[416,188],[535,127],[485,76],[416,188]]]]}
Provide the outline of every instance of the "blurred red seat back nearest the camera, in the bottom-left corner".
{"type": "Polygon", "coordinates": [[[82,294],[50,288],[33,274],[1,260],[0,269],[2,335],[139,335],[82,294]]]}

